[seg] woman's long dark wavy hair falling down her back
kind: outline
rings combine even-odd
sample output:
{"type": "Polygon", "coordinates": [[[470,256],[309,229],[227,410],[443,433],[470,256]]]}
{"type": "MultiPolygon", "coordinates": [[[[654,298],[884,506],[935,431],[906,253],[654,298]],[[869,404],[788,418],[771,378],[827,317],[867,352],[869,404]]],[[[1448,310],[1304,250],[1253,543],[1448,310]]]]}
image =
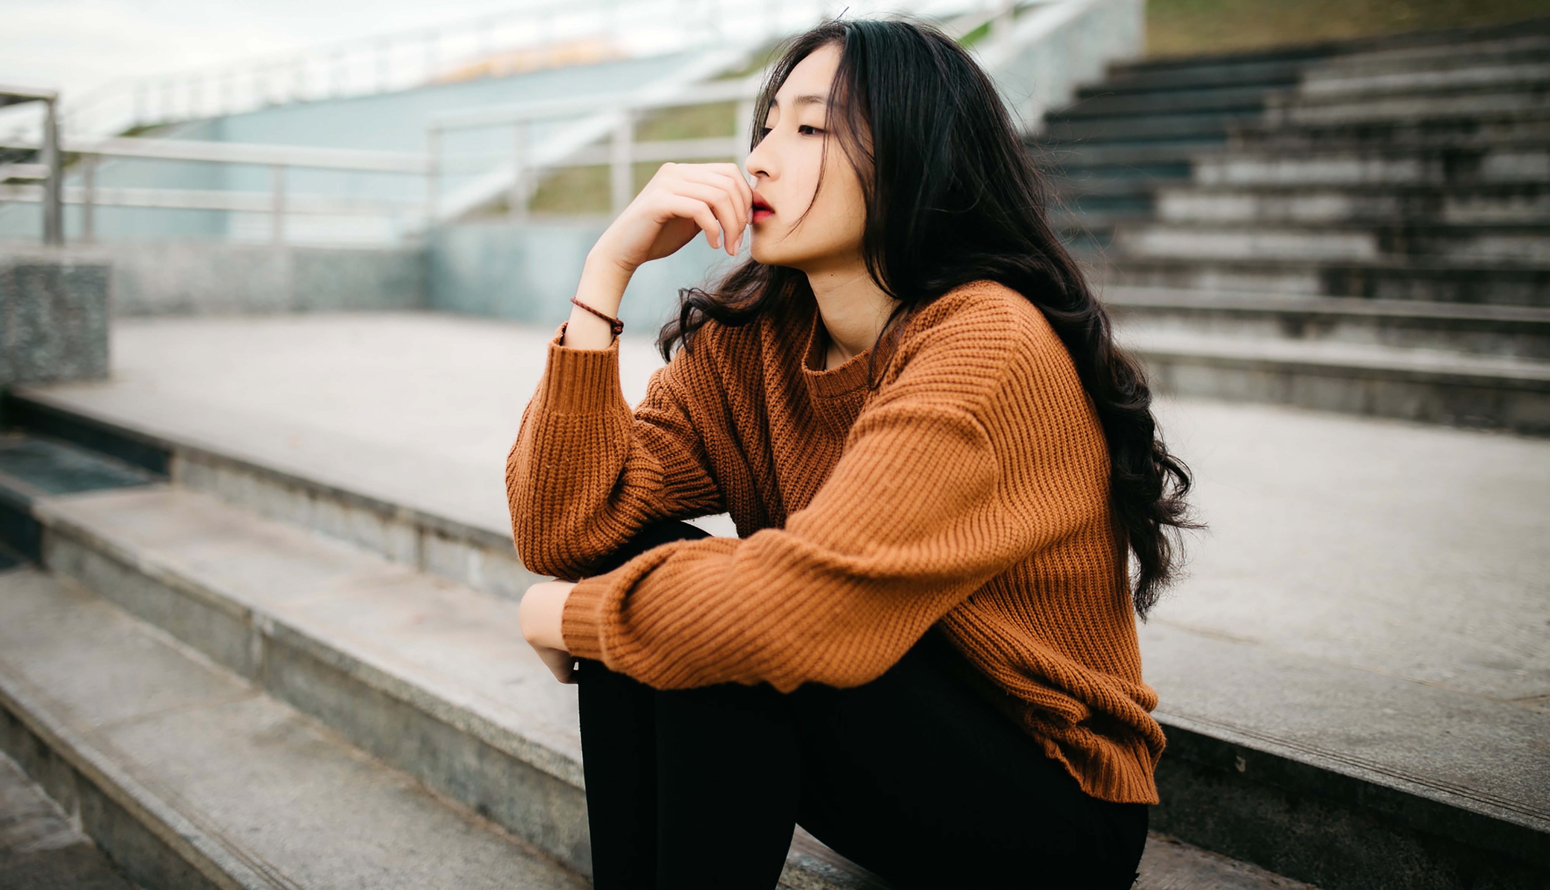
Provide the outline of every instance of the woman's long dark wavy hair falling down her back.
{"type": "MultiPolygon", "coordinates": [[[[1145,617],[1178,571],[1176,532],[1198,527],[1184,501],[1189,468],[1164,447],[1145,372],[1114,344],[1108,312],[1051,229],[1045,183],[995,85],[935,28],[832,20],[787,42],[755,109],[769,109],[792,68],[828,45],[839,47],[840,67],[826,129],[860,177],[866,268],[899,301],[885,336],[973,281],[1004,284],[1043,312],[1102,423],[1118,546],[1135,554],[1132,597],[1145,617]]],[[[750,144],[763,132],[756,115],[750,144]]],[[[679,291],[677,318],[657,346],[671,358],[710,321],[749,324],[803,295],[811,298],[801,271],[747,260],[707,288],[679,291]]]]}

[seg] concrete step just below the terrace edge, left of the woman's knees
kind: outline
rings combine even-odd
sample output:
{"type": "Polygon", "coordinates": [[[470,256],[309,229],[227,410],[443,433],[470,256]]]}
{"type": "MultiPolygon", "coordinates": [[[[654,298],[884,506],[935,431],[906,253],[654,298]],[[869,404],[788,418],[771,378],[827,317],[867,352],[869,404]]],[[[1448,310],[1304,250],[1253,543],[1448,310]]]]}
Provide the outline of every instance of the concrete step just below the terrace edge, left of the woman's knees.
{"type": "Polygon", "coordinates": [[[516,603],[181,487],[40,504],[45,526],[284,626],[370,687],[581,785],[575,687],[522,642],[516,603]]]}

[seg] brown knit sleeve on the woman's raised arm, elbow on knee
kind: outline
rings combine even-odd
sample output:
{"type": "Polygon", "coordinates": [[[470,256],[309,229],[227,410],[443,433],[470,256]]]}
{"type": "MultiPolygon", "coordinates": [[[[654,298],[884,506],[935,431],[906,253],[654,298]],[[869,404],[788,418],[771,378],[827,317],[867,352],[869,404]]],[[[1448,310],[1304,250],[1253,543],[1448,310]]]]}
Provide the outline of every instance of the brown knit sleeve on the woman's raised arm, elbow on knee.
{"type": "Polygon", "coordinates": [[[631,412],[608,349],[549,344],[538,392],[507,456],[518,555],[533,572],[577,578],[656,519],[721,513],[721,492],[690,422],[682,363],[651,377],[631,412]]]}

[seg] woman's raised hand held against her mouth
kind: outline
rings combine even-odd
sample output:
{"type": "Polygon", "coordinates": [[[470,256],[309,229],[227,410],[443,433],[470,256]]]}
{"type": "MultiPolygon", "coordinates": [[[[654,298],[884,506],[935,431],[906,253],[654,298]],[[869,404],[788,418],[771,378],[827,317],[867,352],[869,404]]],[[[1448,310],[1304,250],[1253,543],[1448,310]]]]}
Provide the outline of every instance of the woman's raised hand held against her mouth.
{"type": "Polygon", "coordinates": [[[711,248],[736,256],[752,211],[753,189],[738,164],[662,164],[587,259],[608,259],[634,273],[677,253],[699,233],[711,248]]]}

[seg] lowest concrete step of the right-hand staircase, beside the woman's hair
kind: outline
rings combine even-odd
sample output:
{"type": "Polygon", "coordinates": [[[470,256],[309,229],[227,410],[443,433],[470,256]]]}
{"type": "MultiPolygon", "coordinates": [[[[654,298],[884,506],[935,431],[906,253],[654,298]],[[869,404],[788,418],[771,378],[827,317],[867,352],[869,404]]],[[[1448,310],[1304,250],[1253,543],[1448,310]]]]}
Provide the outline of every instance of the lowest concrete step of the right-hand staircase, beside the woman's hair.
{"type": "Polygon", "coordinates": [[[1125,332],[1164,392],[1550,434],[1550,361],[1180,327],[1125,332]]]}

